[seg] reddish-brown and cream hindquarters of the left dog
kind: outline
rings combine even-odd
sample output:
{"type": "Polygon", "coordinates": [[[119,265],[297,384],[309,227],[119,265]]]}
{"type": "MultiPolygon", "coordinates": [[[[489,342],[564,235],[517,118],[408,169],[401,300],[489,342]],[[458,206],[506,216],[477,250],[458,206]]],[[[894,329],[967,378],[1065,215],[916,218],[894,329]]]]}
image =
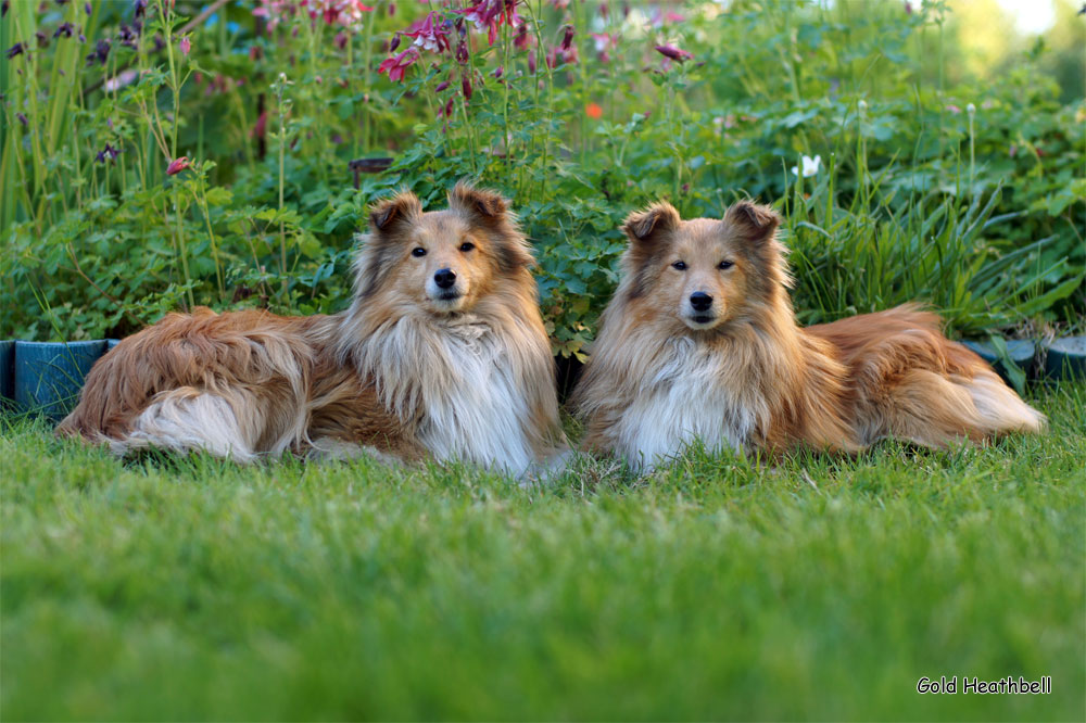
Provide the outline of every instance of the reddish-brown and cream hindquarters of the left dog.
{"type": "Polygon", "coordinates": [[[311,351],[290,319],[261,312],[172,314],[125,339],[87,376],[61,436],[202,448],[250,461],[305,432],[311,351]]]}

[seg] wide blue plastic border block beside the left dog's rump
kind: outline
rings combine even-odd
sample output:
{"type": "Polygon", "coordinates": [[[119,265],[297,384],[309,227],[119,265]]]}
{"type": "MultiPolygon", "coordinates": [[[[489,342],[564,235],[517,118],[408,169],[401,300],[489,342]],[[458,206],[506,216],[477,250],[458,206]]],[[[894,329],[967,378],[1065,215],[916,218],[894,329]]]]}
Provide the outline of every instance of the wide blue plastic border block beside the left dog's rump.
{"type": "Polygon", "coordinates": [[[50,419],[64,418],[79,399],[87,372],[105,341],[15,342],[15,402],[50,419]]]}

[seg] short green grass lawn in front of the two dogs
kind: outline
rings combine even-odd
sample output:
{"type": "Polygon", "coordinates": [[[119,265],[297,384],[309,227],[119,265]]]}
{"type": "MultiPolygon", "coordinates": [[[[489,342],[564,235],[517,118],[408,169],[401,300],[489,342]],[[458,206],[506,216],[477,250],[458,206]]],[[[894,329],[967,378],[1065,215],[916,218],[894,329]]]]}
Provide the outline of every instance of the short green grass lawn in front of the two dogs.
{"type": "Polygon", "coordinates": [[[122,464],[9,419],[0,716],[1081,721],[1086,386],[1033,401],[1049,432],[985,448],[547,489],[122,464]]]}

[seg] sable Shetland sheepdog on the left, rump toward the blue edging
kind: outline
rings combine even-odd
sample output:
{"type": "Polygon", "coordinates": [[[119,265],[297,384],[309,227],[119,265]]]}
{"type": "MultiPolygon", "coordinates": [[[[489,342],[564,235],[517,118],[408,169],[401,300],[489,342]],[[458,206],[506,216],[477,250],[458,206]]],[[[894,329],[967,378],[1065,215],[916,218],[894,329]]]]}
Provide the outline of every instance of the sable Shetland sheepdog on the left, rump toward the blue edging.
{"type": "Polygon", "coordinates": [[[554,360],[505,201],[379,203],[334,316],[171,314],[94,365],[59,434],[251,461],[363,449],[521,474],[565,446],[554,360]]]}

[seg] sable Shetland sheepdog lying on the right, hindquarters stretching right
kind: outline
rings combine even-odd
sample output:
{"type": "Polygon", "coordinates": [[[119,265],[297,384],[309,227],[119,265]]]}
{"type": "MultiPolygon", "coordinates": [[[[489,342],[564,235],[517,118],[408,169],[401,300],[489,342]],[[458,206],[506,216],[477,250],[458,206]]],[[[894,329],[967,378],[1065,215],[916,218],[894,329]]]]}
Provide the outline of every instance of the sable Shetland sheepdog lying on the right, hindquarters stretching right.
{"type": "Polygon", "coordinates": [[[574,392],[585,446],[652,467],[709,448],[854,452],[882,437],[939,447],[1038,431],[978,356],[914,306],[796,326],[780,217],[750,202],[683,221],[629,216],[623,278],[574,392]]]}

